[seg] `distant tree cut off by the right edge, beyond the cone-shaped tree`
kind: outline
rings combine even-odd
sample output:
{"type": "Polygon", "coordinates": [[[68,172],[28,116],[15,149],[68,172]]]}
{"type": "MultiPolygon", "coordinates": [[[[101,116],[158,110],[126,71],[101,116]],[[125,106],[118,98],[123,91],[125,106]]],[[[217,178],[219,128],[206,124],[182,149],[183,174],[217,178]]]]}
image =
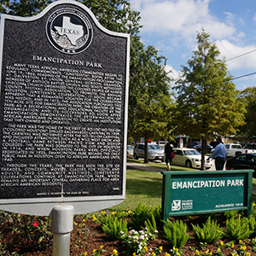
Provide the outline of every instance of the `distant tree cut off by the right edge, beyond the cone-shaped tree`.
{"type": "Polygon", "coordinates": [[[248,87],[241,91],[241,98],[246,101],[246,125],[241,126],[240,135],[244,138],[253,137],[256,134],[256,87],[248,87]]]}

